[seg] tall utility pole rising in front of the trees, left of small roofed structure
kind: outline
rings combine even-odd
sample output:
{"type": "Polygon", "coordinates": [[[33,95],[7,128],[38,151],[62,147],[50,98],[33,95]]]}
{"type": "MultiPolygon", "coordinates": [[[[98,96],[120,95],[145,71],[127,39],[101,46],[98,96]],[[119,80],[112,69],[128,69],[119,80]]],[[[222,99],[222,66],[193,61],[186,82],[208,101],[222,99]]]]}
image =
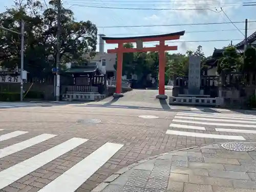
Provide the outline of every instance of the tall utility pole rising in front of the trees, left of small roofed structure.
{"type": "Polygon", "coordinates": [[[60,0],[57,0],[57,58],[56,58],[56,84],[55,84],[55,93],[56,93],[56,101],[59,101],[59,92],[60,92],[60,76],[59,76],[59,67],[60,67],[60,0]]]}

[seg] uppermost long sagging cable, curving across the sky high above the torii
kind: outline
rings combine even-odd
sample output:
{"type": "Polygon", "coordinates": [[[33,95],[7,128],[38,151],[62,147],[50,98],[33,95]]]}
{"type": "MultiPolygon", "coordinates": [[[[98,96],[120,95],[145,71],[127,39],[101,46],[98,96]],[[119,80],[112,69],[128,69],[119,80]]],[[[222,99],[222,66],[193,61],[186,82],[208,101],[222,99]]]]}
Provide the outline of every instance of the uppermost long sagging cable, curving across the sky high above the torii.
{"type": "Polygon", "coordinates": [[[79,4],[69,4],[72,6],[79,7],[90,7],[90,8],[102,8],[102,9],[124,9],[124,10],[155,10],[155,11],[164,11],[164,10],[173,10],[173,11],[195,11],[195,10],[208,10],[215,13],[219,13],[218,11],[212,10],[210,8],[194,8],[194,9],[166,9],[166,8],[128,8],[128,7],[101,7],[101,6],[87,6],[87,5],[79,5],[79,4]]]}

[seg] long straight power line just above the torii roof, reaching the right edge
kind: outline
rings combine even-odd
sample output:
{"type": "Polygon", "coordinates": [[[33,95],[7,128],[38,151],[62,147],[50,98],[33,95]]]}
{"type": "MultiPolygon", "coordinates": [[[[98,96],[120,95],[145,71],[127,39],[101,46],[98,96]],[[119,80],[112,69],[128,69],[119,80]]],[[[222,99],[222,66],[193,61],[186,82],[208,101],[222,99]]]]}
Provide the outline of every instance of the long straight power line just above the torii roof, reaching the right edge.
{"type": "MultiPolygon", "coordinates": [[[[233,22],[234,24],[242,24],[244,22],[233,22]]],[[[251,21],[248,23],[256,23],[256,21],[251,21]]],[[[140,25],[140,26],[100,26],[97,28],[133,28],[133,27],[169,27],[169,26],[197,26],[197,25],[221,25],[221,24],[231,24],[231,22],[220,22],[220,23],[194,23],[194,24],[170,24],[170,25],[140,25]]]]}

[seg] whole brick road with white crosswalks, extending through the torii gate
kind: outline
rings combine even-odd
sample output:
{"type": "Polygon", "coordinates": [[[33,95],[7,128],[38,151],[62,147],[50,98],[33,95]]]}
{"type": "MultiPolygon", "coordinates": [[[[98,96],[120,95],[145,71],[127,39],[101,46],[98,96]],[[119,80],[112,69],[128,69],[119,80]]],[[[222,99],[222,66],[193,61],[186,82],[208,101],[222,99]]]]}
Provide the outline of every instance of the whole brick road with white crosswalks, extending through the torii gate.
{"type": "Polygon", "coordinates": [[[118,100],[1,109],[0,191],[88,192],[153,155],[256,140],[249,112],[169,106],[156,94],[134,90],[118,100]]]}

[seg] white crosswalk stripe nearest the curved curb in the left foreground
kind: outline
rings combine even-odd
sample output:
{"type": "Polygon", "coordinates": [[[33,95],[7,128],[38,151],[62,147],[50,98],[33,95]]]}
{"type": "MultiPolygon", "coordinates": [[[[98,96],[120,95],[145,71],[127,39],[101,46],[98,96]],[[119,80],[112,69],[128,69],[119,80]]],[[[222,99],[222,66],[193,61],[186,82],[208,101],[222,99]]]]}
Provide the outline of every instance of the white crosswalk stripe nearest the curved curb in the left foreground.
{"type": "Polygon", "coordinates": [[[106,161],[108,161],[122,144],[105,143],[91,155],[71,167],[38,192],[75,191],[83,182],[90,178],[106,161]]]}

